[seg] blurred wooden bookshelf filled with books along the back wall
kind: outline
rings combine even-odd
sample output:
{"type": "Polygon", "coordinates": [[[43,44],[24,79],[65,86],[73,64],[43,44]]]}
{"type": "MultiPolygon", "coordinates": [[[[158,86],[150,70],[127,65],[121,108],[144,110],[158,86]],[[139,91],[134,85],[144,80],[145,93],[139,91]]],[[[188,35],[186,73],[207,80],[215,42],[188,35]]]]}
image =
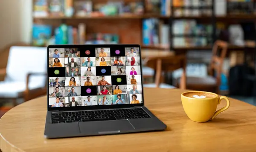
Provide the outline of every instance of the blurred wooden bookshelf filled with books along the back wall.
{"type": "Polygon", "coordinates": [[[203,51],[212,48],[219,22],[255,21],[255,14],[255,0],[33,0],[32,43],[203,51]]]}

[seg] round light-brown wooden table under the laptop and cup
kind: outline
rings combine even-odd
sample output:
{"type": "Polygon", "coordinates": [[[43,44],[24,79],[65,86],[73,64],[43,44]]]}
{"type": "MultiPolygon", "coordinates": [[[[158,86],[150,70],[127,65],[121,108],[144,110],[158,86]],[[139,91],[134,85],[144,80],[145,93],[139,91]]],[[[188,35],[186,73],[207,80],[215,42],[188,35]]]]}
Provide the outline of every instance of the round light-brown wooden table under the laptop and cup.
{"type": "Polygon", "coordinates": [[[167,125],[166,131],[79,138],[45,139],[47,98],[27,101],[0,119],[0,148],[3,152],[256,151],[255,106],[230,99],[230,108],[213,121],[197,123],[183,111],[183,91],[145,88],[145,105],[167,125]]]}

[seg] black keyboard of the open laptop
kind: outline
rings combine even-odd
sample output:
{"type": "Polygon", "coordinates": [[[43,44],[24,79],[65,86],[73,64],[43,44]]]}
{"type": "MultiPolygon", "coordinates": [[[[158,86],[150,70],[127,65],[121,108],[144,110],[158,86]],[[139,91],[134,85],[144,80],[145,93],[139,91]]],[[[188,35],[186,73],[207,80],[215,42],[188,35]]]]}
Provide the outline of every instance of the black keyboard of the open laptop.
{"type": "Polygon", "coordinates": [[[151,118],[142,108],[52,113],[52,124],[151,118]]]}

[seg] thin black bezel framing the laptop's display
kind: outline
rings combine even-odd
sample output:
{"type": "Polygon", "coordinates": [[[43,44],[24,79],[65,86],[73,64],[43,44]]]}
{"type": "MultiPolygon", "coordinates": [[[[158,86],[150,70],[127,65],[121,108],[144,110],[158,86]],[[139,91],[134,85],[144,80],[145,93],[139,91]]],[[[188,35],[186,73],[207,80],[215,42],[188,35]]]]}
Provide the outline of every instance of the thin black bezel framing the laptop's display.
{"type": "MultiPolygon", "coordinates": [[[[80,56],[81,57],[81,56],[80,56]]],[[[112,57],[112,56],[111,56],[112,57]]],[[[66,87],[66,86],[65,86],[66,87]]],[[[111,95],[113,96],[113,95],[111,95]]],[[[127,108],[127,107],[140,107],[144,106],[144,90],[143,90],[143,71],[142,71],[142,60],[141,60],[141,48],[138,44],[129,44],[129,45],[115,45],[115,44],[102,44],[102,45],[48,45],[47,46],[47,111],[73,111],[73,110],[98,110],[98,109],[114,109],[114,108],[127,108]],[[95,106],[77,106],[77,107],[49,107],[49,77],[48,77],[48,68],[49,68],[49,48],[111,48],[111,47],[123,47],[125,48],[139,48],[140,51],[140,73],[141,73],[141,85],[142,85],[142,103],[141,104],[112,104],[112,105],[95,105],[95,106]]]]}

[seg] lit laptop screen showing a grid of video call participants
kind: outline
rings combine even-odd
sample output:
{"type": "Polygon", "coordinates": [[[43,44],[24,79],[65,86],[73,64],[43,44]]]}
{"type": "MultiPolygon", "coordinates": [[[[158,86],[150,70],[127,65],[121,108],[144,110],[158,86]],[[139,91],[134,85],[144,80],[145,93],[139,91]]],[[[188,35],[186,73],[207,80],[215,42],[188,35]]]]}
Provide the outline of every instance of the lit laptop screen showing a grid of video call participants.
{"type": "Polygon", "coordinates": [[[49,45],[48,56],[48,109],[143,103],[139,45],[49,45]]]}

